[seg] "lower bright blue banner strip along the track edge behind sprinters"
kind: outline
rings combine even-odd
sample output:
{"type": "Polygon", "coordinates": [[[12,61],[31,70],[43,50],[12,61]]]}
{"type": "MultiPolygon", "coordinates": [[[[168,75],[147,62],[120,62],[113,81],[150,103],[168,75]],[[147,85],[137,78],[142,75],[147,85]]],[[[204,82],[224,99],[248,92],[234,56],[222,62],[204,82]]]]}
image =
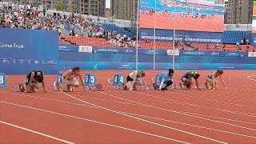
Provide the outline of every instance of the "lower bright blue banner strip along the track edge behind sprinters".
{"type": "MultiPolygon", "coordinates": [[[[135,62],[59,62],[60,70],[80,66],[82,70],[135,70],[135,62]]],[[[156,63],[155,70],[168,70],[171,63],[156,63]]],[[[175,70],[256,70],[256,64],[240,63],[177,63],[175,70]]],[[[153,70],[152,62],[138,62],[139,70],[153,70]]]]}

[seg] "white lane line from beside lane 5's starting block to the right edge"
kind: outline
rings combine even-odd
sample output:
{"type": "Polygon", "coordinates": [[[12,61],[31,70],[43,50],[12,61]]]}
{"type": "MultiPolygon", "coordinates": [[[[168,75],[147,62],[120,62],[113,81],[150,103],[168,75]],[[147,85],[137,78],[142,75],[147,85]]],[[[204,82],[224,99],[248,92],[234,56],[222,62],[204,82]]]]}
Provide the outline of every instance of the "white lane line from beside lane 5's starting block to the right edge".
{"type": "Polygon", "coordinates": [[[228,125],[228,126],[235,126],[235,127],[239,127],[239,128],[246,129],[246,130],[254,130],[254,131],[256,131],[255,129],[252,129],[252,128],[249,128],[249,127],[245,127],[245,126],[238,126],[238,125],[230,124],[230,123],[227,123],[227,122],[220,122],[220,121],[216,121],[216,120],[209,119],[209,118],[198,117],[198,116],[195,116],[195,115],[193,115],[193,114],[186,114],[186,112],[182,112],[182,111],[179,111],[179,110],[169,110],[169,109],[165,109],[165,108],[158,107],[158,106],[151,106],[151,105],[144,104],[144,103],[141,103],[141,102],[135,102],[135,101],[132,101],[132,100],[130,100],[130,99],[120,98],[120,97],[115,96],[115,95],[113,95],[113,94],[107,94],[107,93],[104,93],[104,92],[102,92],[102,91],[99,92],[99,93],[106,94],[106,95],[108,95],[108,96],[110,96],[110,97],[114,97],[114,98],[119,98],[119,99],[122,99],[122,100],[126,100],[126,101],[128,101],[128,102],[134,102],[134,103],[136,103],[136,104],[139,104],[139,105],[142,105],[142,106],[147,106],[147,107],[154,108],[154,109],[158,109],[158,110],[169,111],[169,112],[172,112],[172,113],[182,114],[182,115],[186,115],[186,116],[194,117],[194,118],[199,118],[199,119],[203,119],[203,120],[210,121],[210,122],[217,122],[217,123],[222,123],[222,124],[228,125]]]}

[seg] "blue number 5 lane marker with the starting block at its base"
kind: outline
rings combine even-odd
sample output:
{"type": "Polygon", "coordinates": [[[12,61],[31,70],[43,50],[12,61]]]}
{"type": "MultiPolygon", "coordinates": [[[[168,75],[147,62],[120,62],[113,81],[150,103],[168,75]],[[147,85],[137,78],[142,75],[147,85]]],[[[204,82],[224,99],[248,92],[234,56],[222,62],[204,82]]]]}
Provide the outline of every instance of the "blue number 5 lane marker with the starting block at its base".
{"type": "Polygon", "coordinates": [[[96,74],[86,74],[84,85],[87,90],[104,91],[102,84],[97,83],[96,74]]]}

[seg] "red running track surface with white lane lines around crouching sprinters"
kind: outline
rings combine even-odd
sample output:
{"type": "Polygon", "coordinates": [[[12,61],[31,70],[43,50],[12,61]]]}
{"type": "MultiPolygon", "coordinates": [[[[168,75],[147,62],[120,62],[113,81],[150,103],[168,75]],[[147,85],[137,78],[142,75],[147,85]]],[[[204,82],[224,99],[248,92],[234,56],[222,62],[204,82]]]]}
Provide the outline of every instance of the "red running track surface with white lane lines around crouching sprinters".
{"type": "MultiPolygon", "coordinates": [[[[146,82],[155,74],[147,71],[146,82]]],[[[83,75],[89,71],[83,71],[83,75]]],[[[92,71],[90,71],[92,73],[92,71]]],[[[228,90],[136,92],[110,85],[114,71],[95,71],[105,91],[15,92],[25,76],[0,89],[0,143],[256,143],[256,72],[225,71],[228,90]]],[[[128,74],[129,71],[122,71],[128,74]]],[[[176,82],[185,71],[176,71],[176,82]]],[[[200,71],[200,84],[210,71],[200,71]]]]}

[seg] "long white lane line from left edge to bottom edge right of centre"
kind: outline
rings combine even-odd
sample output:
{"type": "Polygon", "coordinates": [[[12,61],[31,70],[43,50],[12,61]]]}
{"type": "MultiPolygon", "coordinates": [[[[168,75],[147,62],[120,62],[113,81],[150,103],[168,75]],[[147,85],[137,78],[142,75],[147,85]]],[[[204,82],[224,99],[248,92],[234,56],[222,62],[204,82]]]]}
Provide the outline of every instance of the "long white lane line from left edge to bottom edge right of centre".
{"type": "Polygon", "coordinates": [[[16,103],[11,103],[11,102],[4,102],[4,101],[0,101],[0,102],[5,103],[5,104],[9,104],[9,105],[12,105],[12,106],[20,106],[20,107],[24,107],[24,108],[27,108],[27,109],[43,111],[43,112],[50,113],[50,114],[62,115],[62,116],[65,116],[65,117],[75,118],[75,119],[79,119],[79,120],[82,120],[82,121],[94,122],[94,123],[98,123],[98,124],[102,124],[102,125],[106,125],[106,126],[116,127],[116,128],[123,129],[123,130],[134,131],[134,132],[139,133],[139,134],[146,134],[146,135],[154,136],[154,137],[157,137],[157,138],[163,138],[163,139],[167,139],[167,140],[174,141],[174,142],[181,142],[181,143],[189,144],[189,142],[182,142],[182,141],[178,141],[178,140],[173,139],[173,138],[167,138],[167,137],[163,137],[163,136],[160,136],[160,135],[157,135],[157,134],[150,134],[150,133],[143,132],[143,131],[140,131],[140,130],[134,130],[134,129],[130,129],[130,128],[122,127],[122,126],[112,125],[112,124],[105,123],[105,122],[98,122],[98,121],[94,121],[94,120],[87,119],[87,118],[76,117],[76,116],[69,115],[69,114],[57,113],[57,112],[50,111],[50,110],[38,109],[38,108],[31,107],[31,106],[24,106],[24,105],[19,105],[19,104],[16,104],[16,103]]]}

